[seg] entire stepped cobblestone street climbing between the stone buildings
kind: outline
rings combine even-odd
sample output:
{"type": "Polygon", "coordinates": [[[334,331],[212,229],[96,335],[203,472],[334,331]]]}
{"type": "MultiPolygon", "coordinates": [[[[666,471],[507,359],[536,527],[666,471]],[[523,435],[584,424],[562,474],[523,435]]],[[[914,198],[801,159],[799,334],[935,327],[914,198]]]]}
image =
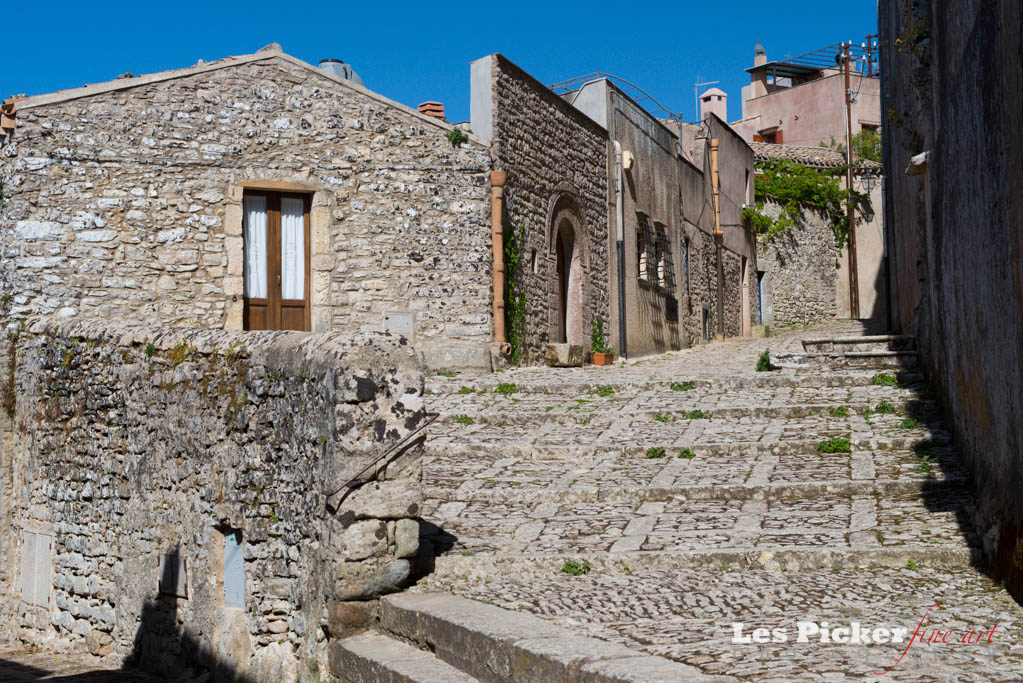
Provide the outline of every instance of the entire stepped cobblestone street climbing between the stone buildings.
{"type": "Polygon", "coordinates": [[[980,564],[967,480],[922,377],[835,363],[755,371],[765,348],[797,359],[805,338],[861,333],[833,323],[614,368],[431,377],[442,417],[422,517],[436,560],[417,590],[708,674],[1023,679],[1023,609],[980,564]],[[938,601],[927,632],[951,635],[914,641],[899,661],[938,601]],[[797,642],[799,622],[909,636],[797,642]],[[732,643],[733,623],[787,640],[732,643]],[[995,625],[990,642],[963,642],[995,625]]]}

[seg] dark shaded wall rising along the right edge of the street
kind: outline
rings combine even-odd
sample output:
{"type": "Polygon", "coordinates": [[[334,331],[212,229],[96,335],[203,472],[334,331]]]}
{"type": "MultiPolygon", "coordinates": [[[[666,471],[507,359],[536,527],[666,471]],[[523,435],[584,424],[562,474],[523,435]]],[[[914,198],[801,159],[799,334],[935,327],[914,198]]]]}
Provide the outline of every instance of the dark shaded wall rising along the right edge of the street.
{"type": "Polygon", "coordinates": [[[1023,599],[1023,7],[882,0],[879,29],[898,46],[881,61],[895,321],[973,472],[994,572],[1023,599]],[[904,175],[921,152],[926,172],[904,175]]]}

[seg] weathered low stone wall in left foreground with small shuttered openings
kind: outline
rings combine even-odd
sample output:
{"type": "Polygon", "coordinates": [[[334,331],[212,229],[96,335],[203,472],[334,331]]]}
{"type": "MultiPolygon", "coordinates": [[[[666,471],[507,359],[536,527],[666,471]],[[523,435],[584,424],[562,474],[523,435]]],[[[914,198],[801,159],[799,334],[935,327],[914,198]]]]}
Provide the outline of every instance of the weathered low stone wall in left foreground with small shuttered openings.
{"type": "Polygon", "coordinates": [[[408,576],[418,448],[327,497],[425,419],[404,340],[74,320],[35,322],[14,346],[2,360],[16,402],[0,417],[6,635],[175,678],[319,680],[327,607],[408,576]],[[243,546],[238,608],[218,583],[228,530],[243,546]],[[27,532],[52,539],[42,606],[21,600],[27,532]],[[186,598],[158,590],[175,584],[164,554],[183,558],[186,598]]]}

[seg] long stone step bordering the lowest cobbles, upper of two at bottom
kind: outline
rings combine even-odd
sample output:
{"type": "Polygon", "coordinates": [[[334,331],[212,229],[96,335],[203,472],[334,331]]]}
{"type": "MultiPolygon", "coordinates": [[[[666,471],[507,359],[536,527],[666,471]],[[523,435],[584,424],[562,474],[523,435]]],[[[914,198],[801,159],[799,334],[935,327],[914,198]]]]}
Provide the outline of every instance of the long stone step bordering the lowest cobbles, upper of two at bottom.
{"type": "Polygon", "coordinates": [[[675,683],[736,681],[624,645],[579,636],[530,614],[444,593],[381,600],[383,629],[484,681],[675,683]]]}

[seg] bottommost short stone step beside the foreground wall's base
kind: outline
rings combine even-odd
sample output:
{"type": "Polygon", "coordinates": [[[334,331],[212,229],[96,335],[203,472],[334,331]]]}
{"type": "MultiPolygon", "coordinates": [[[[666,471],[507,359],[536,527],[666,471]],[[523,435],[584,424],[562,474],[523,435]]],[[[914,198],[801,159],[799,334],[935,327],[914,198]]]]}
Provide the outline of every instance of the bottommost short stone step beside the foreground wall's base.
{"type": "Polygon", "coordinates": [[[330,643],[330,673],[343,683],[475,683],[426,650],[379,633],[330,643]]]}

